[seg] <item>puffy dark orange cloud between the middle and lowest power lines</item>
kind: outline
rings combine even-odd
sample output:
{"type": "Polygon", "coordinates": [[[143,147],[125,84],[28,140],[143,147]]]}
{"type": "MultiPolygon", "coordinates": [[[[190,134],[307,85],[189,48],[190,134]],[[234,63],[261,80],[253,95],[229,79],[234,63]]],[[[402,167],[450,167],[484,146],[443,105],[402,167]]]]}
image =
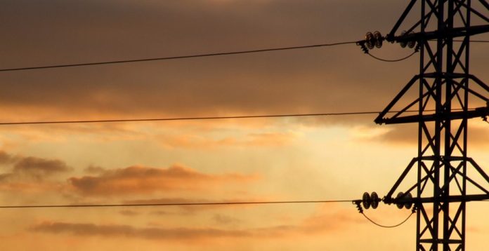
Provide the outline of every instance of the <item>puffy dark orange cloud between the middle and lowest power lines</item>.
{"type": "Polygon", "coordinates": [[[256,175],[209,175],[174,165],[169,168],[131,166],[106,170],[96,176],[72,177],[70,185],[85,196],[151,194],[155,191],[204,189],[226,182],[251,182],[256,175]]]}

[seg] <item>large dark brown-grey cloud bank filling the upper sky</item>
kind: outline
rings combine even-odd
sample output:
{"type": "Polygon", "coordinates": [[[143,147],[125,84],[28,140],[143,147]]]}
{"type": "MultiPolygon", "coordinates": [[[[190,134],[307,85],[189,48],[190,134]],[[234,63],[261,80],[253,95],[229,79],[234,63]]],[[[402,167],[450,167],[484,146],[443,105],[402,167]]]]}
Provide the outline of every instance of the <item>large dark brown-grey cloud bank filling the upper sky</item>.
{"type": "MultiPolygon", "coordinates": [[[[385,34],[405,5],[359,0],[11,1],[0,10],[0,25],[8,34],[0,41],[0,64],[53,65],[356,41],[374,29],[385,34]]],[[[373,53],[389,58],[408,53],[385,47],[373,53]]],[[[484,62],[485,57],[478,57],[484,62]]],[[[0,104],[5,111],[18,111],[15,118],[32,118],[27,111],[36,109],[53,119],[94,113],[137,117],[379,110],[417,69],[414,57],[386,64],[346,45],[10,72],[0,76],[0,104]]],[[[484,72],[485,67],[479,69],[484,72]]],[[[360,120],[341,117],[330,123],[344,121],[360,120]]]]}

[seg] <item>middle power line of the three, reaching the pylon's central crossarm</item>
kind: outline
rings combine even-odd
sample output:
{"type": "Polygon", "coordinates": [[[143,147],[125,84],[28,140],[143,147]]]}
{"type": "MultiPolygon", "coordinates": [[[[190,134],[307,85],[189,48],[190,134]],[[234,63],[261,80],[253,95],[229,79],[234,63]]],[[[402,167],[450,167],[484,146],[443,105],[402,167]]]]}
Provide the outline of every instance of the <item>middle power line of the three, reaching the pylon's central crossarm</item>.
{"type": "MultiPolygon", "coordinates": [[[[453,109],[461,110],[461,109],[453,109]]],[[[471,109],[469,109],[471,110],[471,109]]],[[[424,110],[435,111],[435,110],[424,110]]],[[[398,113],[400,111],[389,111],[398,113]]],[[[418,112],[408,110],[403,112],[418,112]]],[[[240,118],[285,118],[285,117],[305,117],[305,116],[348,116],[379,114],[380,111],[354,111],[337,113],[315,113],[315,114],[262,114],[262,115],[243,115],[243,116],[202,116],[202,117],[180,117],[180,118],[122,118],[122,119],[97,119],[97,120],[72,120],[72,121],[19,121],[19,122],[0,122],[0,126],[22,126],[22,125],[43,125],[43,124],[70,124],[70,123],[117,123],[117,122],[150,122],[150,121],[192,121],[192,120],[219,120],[219,119],[240,119],[240,118]]]]}

